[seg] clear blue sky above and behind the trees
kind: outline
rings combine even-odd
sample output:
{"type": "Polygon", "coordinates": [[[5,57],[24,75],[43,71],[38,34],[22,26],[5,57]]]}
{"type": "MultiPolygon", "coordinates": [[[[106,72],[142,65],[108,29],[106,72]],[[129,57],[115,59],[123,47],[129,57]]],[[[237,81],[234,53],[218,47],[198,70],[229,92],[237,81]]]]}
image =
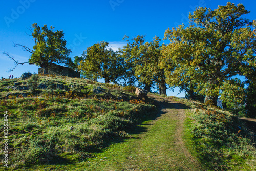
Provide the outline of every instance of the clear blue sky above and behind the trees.
{"type": "MultiPolygon", "coordinates": [[[[242,3],[251,11],[246,18],[256,19],[256,2],[252,0],[231,1],[242,3]]],[[[188,25],[188,14],[196,7],[216,9],[218,5],[226,5],[227,1],[197,0],[197,1],[138,1],[138,0],[94,0],[94,1],[2,1],[0,10],[0,76],[20,77],[25,71],[37,73],[38,66],[18,66],[14,71],[14,62],[2,54],[3,51],[13,55],[19,62],[27,62],[30,53],[23,51],[17,44],[33,47],[33,40],[26,34],[28,28],[37,23],[47,24],[55,30],[63,30],[67,47],[73,53],[70,57],[80,54],[99,41],[107,41],[113,49],[122,47],[124,35],[135,37],[146,35],[146,40],[158,36],[163,38],[167,28],[177,27],[184,23],[188,25]]],[[[167,43],[167,42],[166,42],[167,43]]],[[[167,91],[168,95],[179,93],[167,91]]],[[[184,97],[184,92],[178,95],[184,97]]]]}

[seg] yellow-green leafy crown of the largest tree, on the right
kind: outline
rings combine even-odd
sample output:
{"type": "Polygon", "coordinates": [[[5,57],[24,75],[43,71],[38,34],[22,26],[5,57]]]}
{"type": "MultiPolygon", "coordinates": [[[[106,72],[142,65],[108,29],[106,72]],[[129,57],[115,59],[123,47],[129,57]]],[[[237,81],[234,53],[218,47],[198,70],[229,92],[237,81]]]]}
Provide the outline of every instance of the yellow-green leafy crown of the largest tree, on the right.
{"type": "Polygon", "coordinates": [[[247,75],[255,66],[254,24],[242,18],[248,13],[230,2],[215,10],[199,7],[190,14],[189,27],[167,29],[170,44],[162,51],[166,82],[211,97],[227,92],[223,84],[236,82],[230,81],[233,76],[247,75]]]}

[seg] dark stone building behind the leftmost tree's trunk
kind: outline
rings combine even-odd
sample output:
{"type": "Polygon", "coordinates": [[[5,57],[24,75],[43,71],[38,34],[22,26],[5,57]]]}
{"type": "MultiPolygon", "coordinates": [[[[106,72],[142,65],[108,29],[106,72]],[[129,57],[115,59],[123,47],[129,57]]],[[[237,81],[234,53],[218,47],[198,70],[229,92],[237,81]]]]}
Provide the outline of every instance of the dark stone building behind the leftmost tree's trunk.
{"type": "MultiPolygon", "coordinates": [[[[38,74],[43,74],[43,69],[38,68],[38,74]]],[[[48,74],[80,78],[80,72],[52,63],[48,67],[48,74]]]]}

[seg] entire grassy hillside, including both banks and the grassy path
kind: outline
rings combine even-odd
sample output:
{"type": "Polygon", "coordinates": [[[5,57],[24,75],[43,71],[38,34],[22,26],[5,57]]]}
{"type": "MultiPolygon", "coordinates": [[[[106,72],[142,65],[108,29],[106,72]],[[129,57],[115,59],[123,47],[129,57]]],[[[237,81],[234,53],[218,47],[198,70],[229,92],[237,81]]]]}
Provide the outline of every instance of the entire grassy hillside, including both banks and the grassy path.
{"type": "Polygon", "coordinates": [[[2,80],[0,91],[3,170],[193,170],[183,141],[205,170],[256,169],[253,133],[210,105],[156,94],[138,100],[132,87],[53,75],[2,80]]]}

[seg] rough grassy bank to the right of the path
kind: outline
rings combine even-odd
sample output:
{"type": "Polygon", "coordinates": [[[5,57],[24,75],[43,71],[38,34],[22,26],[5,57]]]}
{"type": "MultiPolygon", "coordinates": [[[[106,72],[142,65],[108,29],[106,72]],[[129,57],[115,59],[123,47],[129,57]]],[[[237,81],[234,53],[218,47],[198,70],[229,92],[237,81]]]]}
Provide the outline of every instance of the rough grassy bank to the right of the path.
{"type": "Polygon", "coordinates": [[[184,128],[187,148],[207,170],[256,169],[253,135],[229,112],[198,106],[187,110],[184,128]]]}

